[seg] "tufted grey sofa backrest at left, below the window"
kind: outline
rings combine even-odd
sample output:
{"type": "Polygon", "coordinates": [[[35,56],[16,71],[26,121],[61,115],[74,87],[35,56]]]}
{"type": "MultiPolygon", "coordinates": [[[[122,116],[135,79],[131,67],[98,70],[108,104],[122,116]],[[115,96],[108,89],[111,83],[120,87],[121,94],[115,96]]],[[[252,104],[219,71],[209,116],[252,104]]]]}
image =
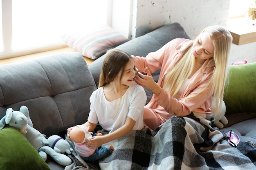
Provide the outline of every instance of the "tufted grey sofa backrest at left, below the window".
{"type": "Polygon", "coordinates": [[[94,79],[80,53],[60,53],[0,66],[0,119],[25,105],[34,128],[50,136],[83,124],[94,79]]]}

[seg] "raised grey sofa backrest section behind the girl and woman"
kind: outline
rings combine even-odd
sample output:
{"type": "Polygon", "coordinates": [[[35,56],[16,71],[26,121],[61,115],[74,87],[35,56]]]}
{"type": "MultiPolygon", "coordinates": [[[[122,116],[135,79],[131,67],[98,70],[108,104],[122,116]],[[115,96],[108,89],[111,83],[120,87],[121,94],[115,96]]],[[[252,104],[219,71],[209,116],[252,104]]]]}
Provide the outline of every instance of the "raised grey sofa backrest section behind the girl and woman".
{"type": "MultiPolygon", "coordinates": [[[[162,46],[164,46],[167,42],[175,39],[175,38],[186,38],[190,39],[189,36],[184,31],[183,27],[175,22],[172,24],[165,24],[164,26],[160,26],[159,28],[142,35],[138,38],[132,39],[124,44],[117,46],[115,49],[121,49],[126,51],[130,55],[137,55],[141,57],[146,57],[146,55],[150,52],[157,51],[162,46]]],[[[99,84],[99,75],[101,73],[101,66],[105,55],[99,57],[97,60],[92,62],[88,67],[92,72],[92,76],[94,77],[95,84],[98,86],[99,84]]],[[[155,82],[158,81],[160,70],[152,73],[152,76],[155,82]]],[[[147,94],[147,103],[152,97],[152,92],[145,89],[147,94]]]]}

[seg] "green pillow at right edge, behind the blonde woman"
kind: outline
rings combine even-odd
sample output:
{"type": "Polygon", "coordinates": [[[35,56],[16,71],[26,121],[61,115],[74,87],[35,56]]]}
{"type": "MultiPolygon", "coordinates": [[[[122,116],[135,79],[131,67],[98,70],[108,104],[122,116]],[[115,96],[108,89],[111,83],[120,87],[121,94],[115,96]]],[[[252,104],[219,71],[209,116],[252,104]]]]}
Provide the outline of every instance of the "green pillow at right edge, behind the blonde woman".
{"type": "Polygon", "coordinates": [[[256,62],[229,66],[224,102],[226,115],[256,113],[256,62]]]}

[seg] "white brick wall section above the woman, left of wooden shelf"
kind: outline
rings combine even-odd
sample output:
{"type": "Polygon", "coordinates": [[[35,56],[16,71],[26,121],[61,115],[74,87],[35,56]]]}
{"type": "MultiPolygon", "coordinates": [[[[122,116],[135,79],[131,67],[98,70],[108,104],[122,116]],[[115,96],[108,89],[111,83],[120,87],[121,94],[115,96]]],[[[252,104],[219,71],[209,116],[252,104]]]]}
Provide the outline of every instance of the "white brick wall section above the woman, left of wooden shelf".
{"type": "Polygon", "coordinates": [[[192,38],[207,26],[227,26],[230,0],[134,0],[137,1],[136,29],[138,37],[169,22],[178,22],[192,38]]]}

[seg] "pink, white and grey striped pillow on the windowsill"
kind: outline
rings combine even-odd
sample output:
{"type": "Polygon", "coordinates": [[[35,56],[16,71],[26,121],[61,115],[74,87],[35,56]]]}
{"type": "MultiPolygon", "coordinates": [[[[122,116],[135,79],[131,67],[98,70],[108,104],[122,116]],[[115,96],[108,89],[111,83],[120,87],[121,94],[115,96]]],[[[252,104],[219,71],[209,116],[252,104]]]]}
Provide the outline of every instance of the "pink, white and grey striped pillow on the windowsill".
{"type": "Polygon", "coordinates": [[[83,32],[66,33],[61,35],[61,39],[70,48],[94,60],[104,55],[108,49],[129,41],[124,35],[106,25],[83,32]]]}

